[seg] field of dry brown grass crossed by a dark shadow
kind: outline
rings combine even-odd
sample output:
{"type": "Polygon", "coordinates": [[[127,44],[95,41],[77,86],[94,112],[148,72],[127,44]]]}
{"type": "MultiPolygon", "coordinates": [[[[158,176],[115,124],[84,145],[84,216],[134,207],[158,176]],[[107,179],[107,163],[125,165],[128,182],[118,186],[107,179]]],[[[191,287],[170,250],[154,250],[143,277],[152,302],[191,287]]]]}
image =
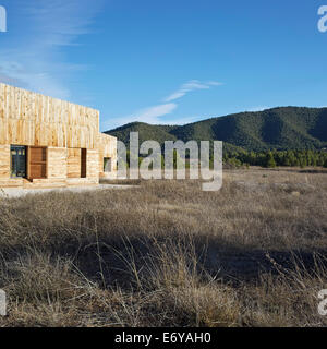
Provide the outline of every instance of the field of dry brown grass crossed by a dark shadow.
{"type": "Polygon", "coordinates": [[[0,201],[0,326],[326,326],[327,173],[0,201]]]}

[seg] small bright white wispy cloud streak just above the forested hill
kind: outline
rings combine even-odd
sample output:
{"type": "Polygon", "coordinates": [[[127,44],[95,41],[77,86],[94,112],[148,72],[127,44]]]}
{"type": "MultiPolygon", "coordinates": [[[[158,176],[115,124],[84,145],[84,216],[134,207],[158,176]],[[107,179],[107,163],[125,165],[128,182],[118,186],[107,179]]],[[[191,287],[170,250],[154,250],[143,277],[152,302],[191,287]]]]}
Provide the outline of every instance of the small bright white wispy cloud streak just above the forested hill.
{"type": "Polygon", "coordinates": [[[202,83],[198,80],[191,80],[183,84],[178,91],[172,93],[169,97],[164,99],[164,104],[144,108],[142,110],[136,111],[135,113],[131,116],[126,116],[123,118],[117,118],[110,120],[110,125],[108,127],[114,128],[119,127],[125,123],[140,121],[140,122],[146,122],[152,124],[184,124],[187,122],[195,121],[195,118],[183,118],[183,119],[172,119],[167,117],[168,115],[171,115],[173,110],[178,108],[177,103],[172,103],[179,98],[182,98],[185,96],[189,92],[195,91],[195,89],[209,89],[213,86],[220,86],[221,83],[210,81],[206,83],[202,83]],[[165,120],[162,120],[162,117],[165,117],[165,120]]]}

